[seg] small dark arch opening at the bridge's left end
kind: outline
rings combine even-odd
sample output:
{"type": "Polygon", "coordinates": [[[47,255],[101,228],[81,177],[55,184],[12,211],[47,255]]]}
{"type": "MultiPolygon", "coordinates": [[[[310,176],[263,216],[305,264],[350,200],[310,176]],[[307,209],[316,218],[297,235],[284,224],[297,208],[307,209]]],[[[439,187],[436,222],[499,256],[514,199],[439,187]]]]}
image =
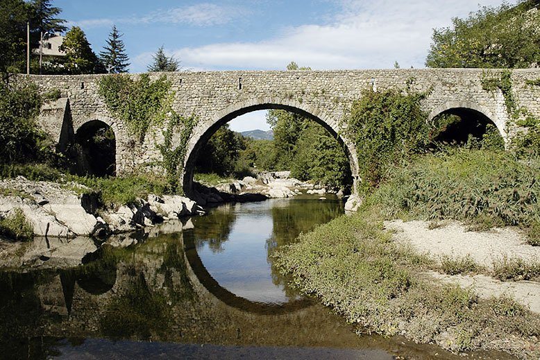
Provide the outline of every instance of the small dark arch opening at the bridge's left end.
{"type": "Polygon", "coordinates": [[[116,136],[107,123],[100,120],[84,123],[75,133],[75,144],[76,173],[99,177],[116,174],[116,136]]]}

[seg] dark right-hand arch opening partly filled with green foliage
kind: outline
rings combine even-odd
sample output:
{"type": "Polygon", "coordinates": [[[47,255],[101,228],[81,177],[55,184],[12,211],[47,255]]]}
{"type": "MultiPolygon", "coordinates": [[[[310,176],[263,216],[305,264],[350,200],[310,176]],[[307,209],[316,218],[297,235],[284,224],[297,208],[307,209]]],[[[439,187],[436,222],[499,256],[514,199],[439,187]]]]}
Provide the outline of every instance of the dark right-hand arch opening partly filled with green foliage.
{"type": "Polygon", "coordinates": [[[448,108],[432,117],[439,132],[433,144],[505,148],[504,134],[484,112],[473,108],[448,108]]]}

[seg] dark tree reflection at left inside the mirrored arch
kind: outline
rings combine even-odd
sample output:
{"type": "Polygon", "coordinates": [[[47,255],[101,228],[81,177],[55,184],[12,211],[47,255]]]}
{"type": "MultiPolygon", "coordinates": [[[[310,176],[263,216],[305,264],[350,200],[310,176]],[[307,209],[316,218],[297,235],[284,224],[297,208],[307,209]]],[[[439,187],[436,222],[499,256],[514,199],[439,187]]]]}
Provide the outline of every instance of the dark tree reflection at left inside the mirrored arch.
{"type": "MultiPolygon", "coordinates": [[[[222,252],[222,244],[229,239],[236,220],[235,205],[221,205],[201,218],[194,218],[195,228],[192,230],[194,243],[197,249],[201,249],[205,243],[212,252],[222,252]]],[[[191,235],[190,234],[190,235],[191,235]]]]}

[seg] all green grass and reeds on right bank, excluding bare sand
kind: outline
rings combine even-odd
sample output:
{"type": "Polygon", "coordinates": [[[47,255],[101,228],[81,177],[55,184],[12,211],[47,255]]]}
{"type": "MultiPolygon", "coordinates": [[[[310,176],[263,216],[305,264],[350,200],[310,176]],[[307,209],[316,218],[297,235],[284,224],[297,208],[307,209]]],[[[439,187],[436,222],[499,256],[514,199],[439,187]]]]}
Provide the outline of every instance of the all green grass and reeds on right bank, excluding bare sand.
{"type": "MultiPolygon", "coordinates": [[[[393,218],[460,220],[475,228],[518,225],[534,239],[540,214],[540,165],[501,151],[457,149],[421,155],[394,169],[390,180],[364,199],[360,212],[302,234],[276,262],[304,293],[356,324],[360,331],[402,334],[454,352],[505,350],[540,357],[540,316],[509,298],[478,298],[471,290],[420,275],[428,269],[486,272],[470,257],[441,264],[391,241],[382,221],[393,218]],[[531,235],[533,234],[533,235],[531,235]],[[535,337],[536,336],[536,337],[535,337]]],[[[531,241],[531,240],[530,240],[531,241]]],[[[538,276],[535,264],[494,264],[501,280],[538,276]]]]}

